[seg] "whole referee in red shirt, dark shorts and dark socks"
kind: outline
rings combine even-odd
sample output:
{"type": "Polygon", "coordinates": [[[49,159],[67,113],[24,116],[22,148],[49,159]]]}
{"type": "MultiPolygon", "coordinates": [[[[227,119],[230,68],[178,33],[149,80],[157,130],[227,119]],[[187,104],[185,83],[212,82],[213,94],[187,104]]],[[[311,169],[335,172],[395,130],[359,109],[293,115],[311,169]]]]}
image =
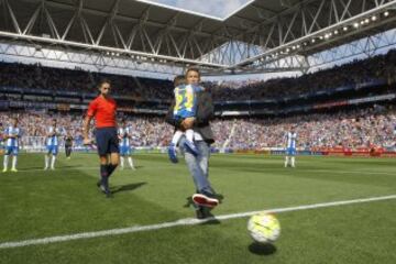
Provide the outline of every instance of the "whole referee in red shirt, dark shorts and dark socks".
{"type": "Polygon", "coordinates": [[[84,121],[84,144],[89,145],[92,143],[89,139],[89,124],[92,118],[95,118],[95,136],[100,158],[100,180],[97,185],[106,194],[106,197],[109,198],[111,196],[109,177],[120,161],[116,123],[117,103],[109,96],[111,88],[109,80],[100,81],[98,88],[100,95],[89,103],[87,117],[84,121]]]}

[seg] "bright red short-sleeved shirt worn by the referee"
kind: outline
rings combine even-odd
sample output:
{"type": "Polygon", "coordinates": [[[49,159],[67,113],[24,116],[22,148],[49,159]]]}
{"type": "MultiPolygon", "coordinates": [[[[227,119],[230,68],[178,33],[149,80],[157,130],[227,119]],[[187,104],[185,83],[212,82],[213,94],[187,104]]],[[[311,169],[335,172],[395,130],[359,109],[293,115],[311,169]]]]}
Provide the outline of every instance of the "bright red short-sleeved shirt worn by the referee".
{"type": "Polygon", "coordinates": [[[88,117],[95,117],[96,128],[116,128],[116,111],[117,103],[114,99],[98,96],[94,101],[89,103],[88,117]]]}

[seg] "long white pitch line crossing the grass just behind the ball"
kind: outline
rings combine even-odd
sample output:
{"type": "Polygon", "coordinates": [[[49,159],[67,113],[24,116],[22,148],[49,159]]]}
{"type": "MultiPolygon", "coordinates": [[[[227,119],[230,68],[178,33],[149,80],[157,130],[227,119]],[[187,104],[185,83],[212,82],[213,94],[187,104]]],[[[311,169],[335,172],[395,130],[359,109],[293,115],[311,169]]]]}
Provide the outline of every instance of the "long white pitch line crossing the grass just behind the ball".
{"type": "Polygon", "coordinates": [[[57,235],[57,237],[50,237],[50,238],[43,238],[43,239],[3,242],[3,243],[0,243],[0,249],[23,248],[23,246],[28,246],[28,245],[51,244],[51,243],[66,242],[66,241],[73,241],[73,240],[92,239],[92,238],[100,238],[100,237],[110,237],[110,235],[151,231],[151,230],[160,230],[160,229],[174,228],[174,227],[196,226],[196,224],[200,224],[200,223],[205,223],[205,222],[209,222],[209,221],[213,221],[213,220],[229,220],[229,219],[245,218],[245,217],[250,217],[255,213],[258,213],[258,212],[280,213],[280,212],[288,212],[288,211],[309,210],[309,209],[317,209],[317,208],[337,207],[337,206],[382,201],[382,200],[392,200],[392,199],[396,199],[396,195],[362,198],[362,199],[354,199],[354,200],[331,201],[331,202],[305,205],[305,206],[297,206],[297,207],[275,208],[275,209],[268,209],[268,210],[262,210],[262,211],[231,213],[231,215],[218,216],[215,218],[208,218],[205,220],[186,218],[186,219],[180,219],[180,220],[177,220],[174,222],[164,222],[164,223],[150,224],[150,226],[135,226],[135,227],[123,228],[123,229],[110,229],[110,230],[103,230],[103,231],[57,235]]]}

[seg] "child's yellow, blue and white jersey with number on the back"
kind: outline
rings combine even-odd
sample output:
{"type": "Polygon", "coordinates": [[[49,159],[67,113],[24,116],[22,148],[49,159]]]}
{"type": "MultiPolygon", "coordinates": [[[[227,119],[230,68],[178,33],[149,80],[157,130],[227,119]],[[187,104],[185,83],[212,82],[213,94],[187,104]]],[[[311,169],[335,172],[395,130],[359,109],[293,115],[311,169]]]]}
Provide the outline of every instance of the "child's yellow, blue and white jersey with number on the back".
{"type": "Polygon", "coordinates": [[[196,116],[197,92],[204,90],[197,85],[182,85],[175,88],[175,119],[186,119],[196,116]]]}

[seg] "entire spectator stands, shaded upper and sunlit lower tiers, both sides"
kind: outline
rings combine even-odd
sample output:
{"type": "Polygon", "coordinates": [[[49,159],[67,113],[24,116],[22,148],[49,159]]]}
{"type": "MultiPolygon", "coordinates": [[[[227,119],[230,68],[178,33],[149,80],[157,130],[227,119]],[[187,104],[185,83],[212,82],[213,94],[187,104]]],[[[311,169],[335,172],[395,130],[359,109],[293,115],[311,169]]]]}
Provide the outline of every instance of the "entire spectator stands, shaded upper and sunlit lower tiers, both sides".
{"type": "MultiPolygon", "coordinates": [[[[389,51],[385,55],[297,78],[206,82],[217,101],[215,147],[280,147],[284,142],[279,135],[296,125],[298,146],[302,148],[371,144],[392,148],[395,146],[396,116],[388,101],[396,97],[395,63],[396,51],[389,51]],[[250,101],[241,101],[244,99],[250,101]],[[354,107],[358,105],[359,109],[354,107]],[[386,107],[373,107],[378,105],[386,107]],[[249,111],[244,111],[246,108],[249,111]]],[[[168,80],[47,68],[38,64],[1,63],[0,66],[0,109],[3,109],[0,117],[6,123],[7,117],[19,113],[24,145],[33,145],[32,139],[44,135],[50,118],[56,118],[61,127],[72,130],[76,145],[81,145],[81,111],[96,96],[95,84],[101,78],[112,80],[120,118],[127,118],[134,128],[135,146],[168,144],[172,129],[162,117],[172,99],[173,88],[168,80]],[[14,110],[7,111],[10,108],[14,110]]]]}

